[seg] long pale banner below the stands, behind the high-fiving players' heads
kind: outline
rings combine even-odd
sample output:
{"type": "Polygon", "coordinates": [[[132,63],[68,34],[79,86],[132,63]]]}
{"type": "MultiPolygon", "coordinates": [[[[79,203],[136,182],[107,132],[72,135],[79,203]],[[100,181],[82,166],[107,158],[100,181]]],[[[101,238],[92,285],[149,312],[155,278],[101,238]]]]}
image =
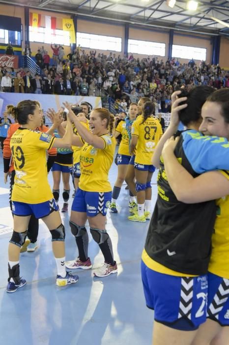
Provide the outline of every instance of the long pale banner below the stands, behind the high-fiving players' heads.
{"type": "Polygon", "coordinates": [[[23,100],[38,101],[44,111],[46,118],[46,124],[50,125],[50,120],[46,116],[48,108],[54,108],[56,111],[63,106],[63,102],[69,102],[71,104],[81,104],[82,102],[88,102],[92,105],[92,108],[101,107],[100,97],[87,97],[87,96],[64,96],[64,95],[35,95],[35,94],[16,94],[10,92],[0,92],[0,117],[3,116],[3,111],[6,105],[17,105],[23,100]]]}

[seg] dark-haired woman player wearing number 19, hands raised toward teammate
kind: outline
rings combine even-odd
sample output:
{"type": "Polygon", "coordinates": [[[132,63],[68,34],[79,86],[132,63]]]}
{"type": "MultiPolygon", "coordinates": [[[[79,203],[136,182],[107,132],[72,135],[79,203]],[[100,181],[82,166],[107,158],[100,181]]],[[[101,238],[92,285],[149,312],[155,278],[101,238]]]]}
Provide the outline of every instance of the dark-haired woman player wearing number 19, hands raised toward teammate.
{"type": "Polygon", "coordinates": [[[20,127],[10,140],[15,168],[11,196],[14,230],[8,249],[9,278],[6,291],[15,292],[26,284],[26,280],[20,277],[19,256],[21,246],[27,237],[29,219],[32,214],[44,221],[52,235],[53,253],[57,264],[57,286],[75,283],[78,281],[78,276],[66,273],[64,266],[65,229],[48,183],[46,166],[47,149],[70,147],[71,122],[68,120],[65,136],[57,139],[47,133],[35,131],[42,121],[42,113],[36,101],[22,101],[17,106],[12,105],[8,110],[20,127]]]}

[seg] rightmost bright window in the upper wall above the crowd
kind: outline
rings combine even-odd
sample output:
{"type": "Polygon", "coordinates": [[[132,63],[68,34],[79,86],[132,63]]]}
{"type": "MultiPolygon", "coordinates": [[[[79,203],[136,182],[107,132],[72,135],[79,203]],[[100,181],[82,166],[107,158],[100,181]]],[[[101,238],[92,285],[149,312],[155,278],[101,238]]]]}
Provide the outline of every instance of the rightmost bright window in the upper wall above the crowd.
{"type": "Polygon", "coordinates": [[[206,60],[206,48],[188,47],[186,45],[172,45],[172,57],[181,59],[206,60]]]}

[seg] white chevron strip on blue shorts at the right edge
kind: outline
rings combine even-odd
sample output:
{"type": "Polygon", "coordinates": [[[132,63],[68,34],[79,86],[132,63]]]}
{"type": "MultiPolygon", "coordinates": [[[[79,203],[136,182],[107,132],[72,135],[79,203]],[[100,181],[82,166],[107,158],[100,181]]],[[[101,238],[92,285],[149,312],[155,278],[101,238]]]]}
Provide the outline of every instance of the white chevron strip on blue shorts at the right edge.
{"type": "Polygon", "coordinates": [[[224,308],[224,304],[227,302],[229,298],[229,279],[222,280],[213,301],[211,302],[208,310],[207,316],[213,317],[215,319],[219,319],[219,313],[224,308]]]}

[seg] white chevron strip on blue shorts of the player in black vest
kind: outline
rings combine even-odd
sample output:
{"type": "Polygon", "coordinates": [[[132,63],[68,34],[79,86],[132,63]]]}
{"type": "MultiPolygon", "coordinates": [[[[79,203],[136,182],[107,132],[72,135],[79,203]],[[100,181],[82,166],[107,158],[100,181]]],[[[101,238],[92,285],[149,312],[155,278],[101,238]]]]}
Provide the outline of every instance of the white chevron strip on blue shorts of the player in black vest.
{"type": "Polygon", "coordinates": [[[181,278],[181,292],[178,318],[187,317],[191,320],[191,310],[193,305],[193,283],[192,277],[181,278]]]}

